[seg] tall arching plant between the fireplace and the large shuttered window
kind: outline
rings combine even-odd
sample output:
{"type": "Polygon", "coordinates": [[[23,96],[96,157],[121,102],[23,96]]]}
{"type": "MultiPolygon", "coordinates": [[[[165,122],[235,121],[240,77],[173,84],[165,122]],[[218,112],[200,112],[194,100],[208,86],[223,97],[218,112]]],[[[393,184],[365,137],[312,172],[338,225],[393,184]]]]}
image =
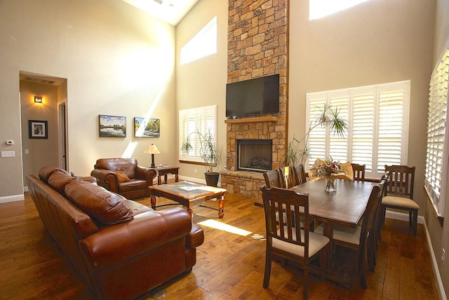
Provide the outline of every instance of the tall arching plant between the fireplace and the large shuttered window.
{"type": "Polygon", "coordinates": [[[295,136],[293,136],[293,140],[288,143],[285,159],[286,166],[294,166],[299,162],[303,164],[305,159],[309,157],[309,148],[307,148],[309,135],[310,132],[318,126],[325,127],[330,133],[341,137],[348,131],[347,120],[340,117],[340,109],[324,104],[323,108],[320,110],[320,114],[310,122],[309,130],[304,137],[297,140],[295,136]],[[302,142],[304,142],[304,148],[300,148],[302,142]]]}

